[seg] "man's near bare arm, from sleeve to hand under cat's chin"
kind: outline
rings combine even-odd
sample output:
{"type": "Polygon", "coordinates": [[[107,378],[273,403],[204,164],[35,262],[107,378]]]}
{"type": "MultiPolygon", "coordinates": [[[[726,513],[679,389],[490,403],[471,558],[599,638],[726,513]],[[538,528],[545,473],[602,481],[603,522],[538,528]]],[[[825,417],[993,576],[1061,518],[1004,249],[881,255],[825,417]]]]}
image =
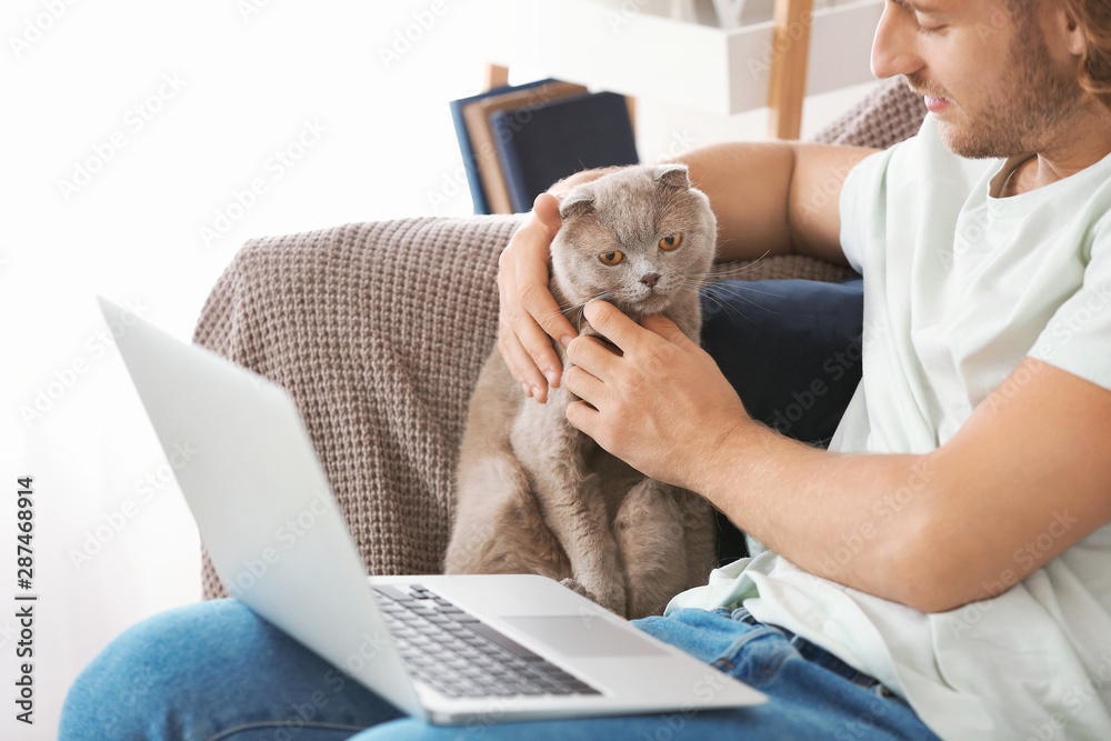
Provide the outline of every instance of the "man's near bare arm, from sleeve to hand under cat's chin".
{"type": "Polygon", "coordinates": [[[928,454],[837,454],[752,421],[662,318],[595,301],[568,419],[811,573],[924,612],[993,597],[1111,521],[1111,391],[1028,359],[928,454]],[[668,394],[652,389],[667,388],[668,394]]]}

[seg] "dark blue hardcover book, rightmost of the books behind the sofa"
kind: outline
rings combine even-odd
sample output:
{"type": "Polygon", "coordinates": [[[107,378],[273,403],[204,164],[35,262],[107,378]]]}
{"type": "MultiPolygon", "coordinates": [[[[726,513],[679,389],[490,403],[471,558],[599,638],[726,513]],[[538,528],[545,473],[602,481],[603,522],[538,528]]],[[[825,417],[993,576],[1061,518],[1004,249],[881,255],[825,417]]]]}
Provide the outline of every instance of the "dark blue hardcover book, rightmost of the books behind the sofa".
{"type": "Polygon", "coordinates": [[[490,128],[517,212],[529,211],[537,196],[579,170],[639,161],[629,109],[613,92],[497,111],[490,128]]]}

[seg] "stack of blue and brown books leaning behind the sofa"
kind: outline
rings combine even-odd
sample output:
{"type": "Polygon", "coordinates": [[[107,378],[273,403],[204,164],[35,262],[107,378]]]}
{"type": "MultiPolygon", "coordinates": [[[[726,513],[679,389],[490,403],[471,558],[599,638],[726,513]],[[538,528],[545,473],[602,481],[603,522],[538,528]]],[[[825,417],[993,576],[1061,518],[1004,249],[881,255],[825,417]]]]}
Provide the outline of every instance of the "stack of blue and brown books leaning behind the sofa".
{"type": "Polygon", "coordinates": [[[561,178],[638,162],[615,93],[540,80],[454,100],[451,116],[476,213],[528,211],[561,178]]]}

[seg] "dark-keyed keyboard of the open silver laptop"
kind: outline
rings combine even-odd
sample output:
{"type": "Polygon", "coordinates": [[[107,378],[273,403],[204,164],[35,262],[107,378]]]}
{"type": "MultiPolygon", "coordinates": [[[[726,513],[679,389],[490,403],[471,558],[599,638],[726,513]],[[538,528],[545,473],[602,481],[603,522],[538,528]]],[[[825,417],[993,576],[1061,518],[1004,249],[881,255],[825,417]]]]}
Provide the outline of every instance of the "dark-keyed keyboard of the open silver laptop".
{"type": "Polygon", "coordinates": [[[448,697],[601,694],[426,587],[374,591],[409,672],[448,697]]]}

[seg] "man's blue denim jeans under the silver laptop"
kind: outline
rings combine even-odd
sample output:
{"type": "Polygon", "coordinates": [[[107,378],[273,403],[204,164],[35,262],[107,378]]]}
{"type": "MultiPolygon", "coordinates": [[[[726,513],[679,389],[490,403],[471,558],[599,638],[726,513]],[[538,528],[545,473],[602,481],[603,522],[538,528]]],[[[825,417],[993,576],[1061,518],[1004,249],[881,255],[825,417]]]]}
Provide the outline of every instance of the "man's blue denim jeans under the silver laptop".
{"type": "Polygon", "coordinates": [[[402,715],[236,600],[127,630],[81,673],[59,739],[937,739],[874,679],[741,609],[682,610],[642,630],[769,695],[657,715],[434,727],[402,715]]]}

